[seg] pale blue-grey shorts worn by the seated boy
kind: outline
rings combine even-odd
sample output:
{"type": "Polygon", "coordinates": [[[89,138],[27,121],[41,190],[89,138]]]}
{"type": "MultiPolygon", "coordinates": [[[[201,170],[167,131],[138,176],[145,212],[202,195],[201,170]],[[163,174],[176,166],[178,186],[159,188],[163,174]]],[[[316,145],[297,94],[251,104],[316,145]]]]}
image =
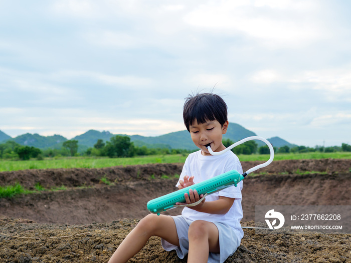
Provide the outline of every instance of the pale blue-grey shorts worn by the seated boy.
{"type": "MultiPolygon", "coordinates": [[[[179,237],[180,246],[173,245],[161,238],[162,247],[166,251],[175,250],[179,258],[184,258],[189,251],[188,230],[192,220],[182,215],[172,216],[179,237]]],[[[213,222],[219,232],[220,253],[209,253],[209,263],[223,263],[229,256],[234,254],[240,245],[240,233],[222,222],[213,222]]]]}

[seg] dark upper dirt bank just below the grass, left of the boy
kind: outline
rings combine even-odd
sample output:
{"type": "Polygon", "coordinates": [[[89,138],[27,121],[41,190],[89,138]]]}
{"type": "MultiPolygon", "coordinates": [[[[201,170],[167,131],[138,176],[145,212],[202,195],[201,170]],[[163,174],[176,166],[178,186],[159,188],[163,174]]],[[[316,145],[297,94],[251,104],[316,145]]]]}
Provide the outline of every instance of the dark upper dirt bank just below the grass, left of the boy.
{"type": "Polygon", "coordinates": [[[101,183],[101,178],[110,182],[140,181],[147,178],[169,177],[181,174],[182,163],[145,164],[132,166],[114,166],[100,169],[31,169],[0,172],[0,186],[20,183],[27,189],[34,189],[36,184],[45,188],[94,186],[101,183]]]}

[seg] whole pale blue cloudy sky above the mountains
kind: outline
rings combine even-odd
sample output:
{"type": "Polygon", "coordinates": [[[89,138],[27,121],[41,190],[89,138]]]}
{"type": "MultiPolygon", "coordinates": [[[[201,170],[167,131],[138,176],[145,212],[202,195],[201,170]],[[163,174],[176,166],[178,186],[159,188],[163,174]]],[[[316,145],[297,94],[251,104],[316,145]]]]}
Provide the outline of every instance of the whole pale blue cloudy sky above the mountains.
{"type": "Polygon", "coordinates": [[[229,121],[314,147],[351,144],[348,1],[0,0],[0,130],[184,130],[189,93],[229,121]]]}

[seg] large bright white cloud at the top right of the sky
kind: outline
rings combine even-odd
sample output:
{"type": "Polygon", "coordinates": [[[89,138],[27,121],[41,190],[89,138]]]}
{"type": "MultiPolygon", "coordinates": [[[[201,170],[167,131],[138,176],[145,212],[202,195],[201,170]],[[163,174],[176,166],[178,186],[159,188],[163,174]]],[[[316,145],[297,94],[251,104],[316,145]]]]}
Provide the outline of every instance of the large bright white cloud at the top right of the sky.
{"type": "Polygon", "coordinates": [[[270,47],[298,47],[325,39],[323,26],[305,18],[314,16],[314,5],[301,3],[258,1],[252,6],[249,1],[206,2],[187,14],[185,21],[222,34],[244,34],[270,47]],[[272,12],[261,11],[262,6],[270,7],[272,12]]]}

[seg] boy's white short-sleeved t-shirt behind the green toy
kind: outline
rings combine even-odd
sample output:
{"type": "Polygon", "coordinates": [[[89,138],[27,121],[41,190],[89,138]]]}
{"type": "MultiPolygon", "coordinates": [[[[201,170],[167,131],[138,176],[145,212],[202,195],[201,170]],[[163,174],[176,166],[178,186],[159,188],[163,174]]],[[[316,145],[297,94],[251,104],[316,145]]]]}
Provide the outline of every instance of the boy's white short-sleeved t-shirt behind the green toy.
{"type": "MultiPolygon", "coordinates": [[[[194,183],[199,183],[222,173],[237,170],[243,173],[239,158],[232,152],[228,151],[221,155],[202,155],[201,150],[191,153],[185,161],[180,180],[184,180],[184,176],[194,176],[194,183]]],[[[179,182],[177,183],[177,187],[179,182]]],[[[230,186],[219,192],[206,196],[206,201],[215,201],[219,196],[235,198],[230,210],[225,214],[209,214],[195,211],[189,207],[184,207],[182,215],[190,220],[206,220],[209,222],[223,222],[239,230],[241,238],[244,232],[241,229],[240,220],[243,218],[243,209],[241,207],[241,190],[243,189],[243,181],[238,186],[230,186]]]]}

